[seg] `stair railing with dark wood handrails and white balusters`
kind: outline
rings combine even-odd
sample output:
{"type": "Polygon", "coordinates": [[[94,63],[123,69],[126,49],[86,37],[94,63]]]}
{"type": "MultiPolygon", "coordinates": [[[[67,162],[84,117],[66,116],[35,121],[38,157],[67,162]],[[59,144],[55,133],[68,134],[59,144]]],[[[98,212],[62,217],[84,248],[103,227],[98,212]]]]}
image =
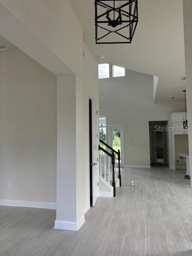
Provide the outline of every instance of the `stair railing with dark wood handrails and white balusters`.
{"type": "Polygon", "coordinates": [[[99,180],[109,189],[113,189],[112,196],[116,196],[116,187],[121,186],[120,150],[114,150],[102,140],[100,140],[100,144],[99,180]]]}

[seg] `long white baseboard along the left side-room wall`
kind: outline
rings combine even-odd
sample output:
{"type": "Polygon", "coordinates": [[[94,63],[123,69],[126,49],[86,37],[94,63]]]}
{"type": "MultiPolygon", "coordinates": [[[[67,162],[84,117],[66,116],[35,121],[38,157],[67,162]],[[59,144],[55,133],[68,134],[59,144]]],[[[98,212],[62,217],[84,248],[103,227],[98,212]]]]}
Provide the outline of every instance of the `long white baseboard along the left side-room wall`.
{"type": "Polygon", "coordinates": [[[0,205],[30,208],[56,209],[56,203],[0,199],[0,205]]]}

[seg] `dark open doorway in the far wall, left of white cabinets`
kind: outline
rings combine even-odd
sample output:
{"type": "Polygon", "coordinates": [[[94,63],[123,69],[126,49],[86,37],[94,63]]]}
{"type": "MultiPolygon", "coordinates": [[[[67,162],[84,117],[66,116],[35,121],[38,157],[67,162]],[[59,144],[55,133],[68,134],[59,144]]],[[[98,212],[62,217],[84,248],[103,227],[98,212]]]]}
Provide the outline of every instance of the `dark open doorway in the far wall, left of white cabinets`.
{"type": "Polygon", "coordinates": [[[151,121],[149,122],[150,137],[150,164],[167,165],[167,133],[166,125],[168,121],[151,121]]]}

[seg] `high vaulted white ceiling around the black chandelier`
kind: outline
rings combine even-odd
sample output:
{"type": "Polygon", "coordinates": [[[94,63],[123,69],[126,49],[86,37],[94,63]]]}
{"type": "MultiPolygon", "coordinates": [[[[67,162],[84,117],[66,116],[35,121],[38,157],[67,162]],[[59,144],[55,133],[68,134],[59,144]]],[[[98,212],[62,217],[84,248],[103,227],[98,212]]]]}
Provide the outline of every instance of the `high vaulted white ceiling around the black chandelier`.
{"type": "MultiPolygon", "coordinates": [[[[185,82],[182,0],[138,0],[139,22],[131,44],[95,44],[94,0],[68,0],[98,63],[159,76],[155,102],[183,101],[185,82]],[[97,58],[104,55],[104,59],[97,58]]],[[[110,2],[110,1],[109,1],[110,2]]]]}

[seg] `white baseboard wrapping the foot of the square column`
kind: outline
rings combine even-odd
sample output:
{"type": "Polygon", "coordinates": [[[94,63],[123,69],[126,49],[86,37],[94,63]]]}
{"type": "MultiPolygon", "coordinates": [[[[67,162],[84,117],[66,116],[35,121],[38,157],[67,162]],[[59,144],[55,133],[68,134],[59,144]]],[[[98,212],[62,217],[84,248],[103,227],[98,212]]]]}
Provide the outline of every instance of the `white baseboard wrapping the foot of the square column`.
{"type": "Polygon", "coordinates": [[[64,220],[55,220],[55,229],[64,229],[64,230],[74,230],[77,231],[85,222],[85,216],[83,215],[80,220],[75,221],[64,221],[64,220]]]}

